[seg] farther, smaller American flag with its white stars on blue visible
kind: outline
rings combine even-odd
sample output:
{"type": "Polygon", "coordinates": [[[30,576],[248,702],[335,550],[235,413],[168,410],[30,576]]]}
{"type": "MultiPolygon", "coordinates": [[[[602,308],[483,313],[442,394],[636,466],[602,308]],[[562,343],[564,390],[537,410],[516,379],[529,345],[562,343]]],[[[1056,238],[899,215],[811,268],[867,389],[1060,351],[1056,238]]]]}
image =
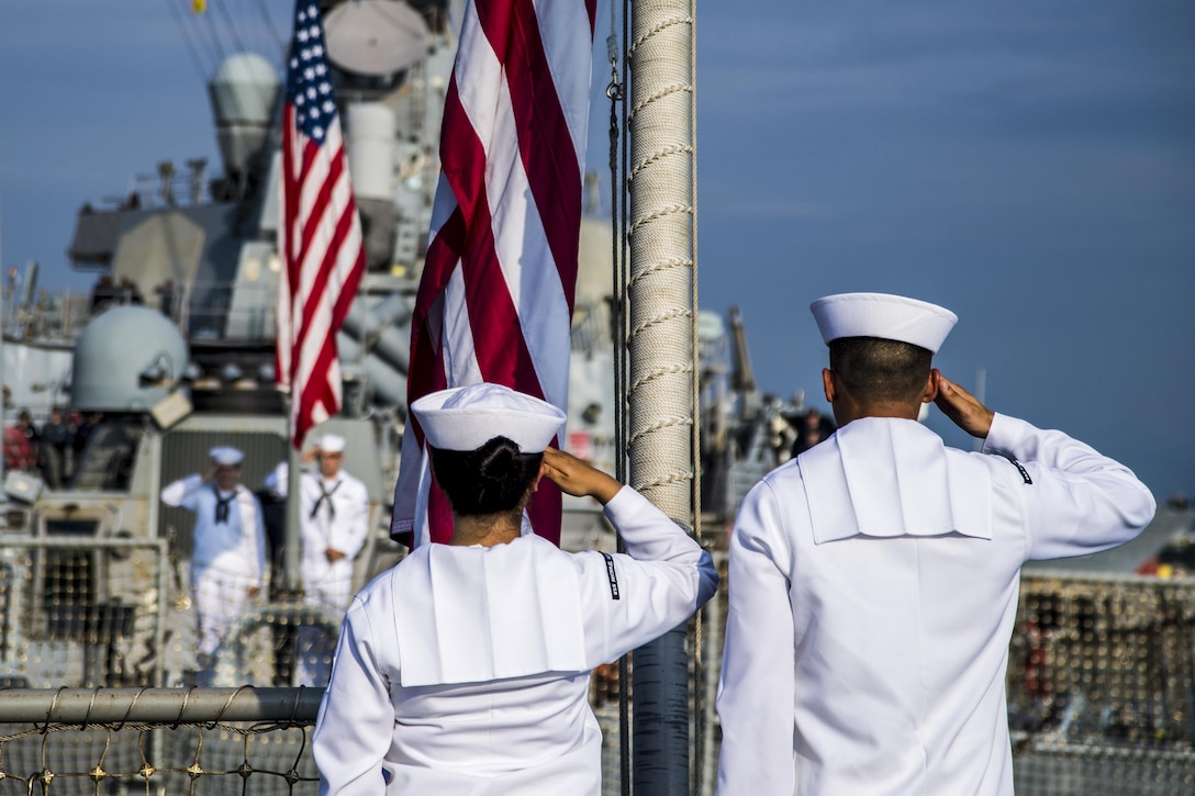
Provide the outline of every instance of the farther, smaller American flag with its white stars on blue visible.
{"type": "Polygon", "coordinates": [[[295,5],[282,118],[282,280],[277,380],[290,387],[290,434],[341,409],[339,330],[366,269],[361,219],[349,184],[315,0],[295,5]]]}

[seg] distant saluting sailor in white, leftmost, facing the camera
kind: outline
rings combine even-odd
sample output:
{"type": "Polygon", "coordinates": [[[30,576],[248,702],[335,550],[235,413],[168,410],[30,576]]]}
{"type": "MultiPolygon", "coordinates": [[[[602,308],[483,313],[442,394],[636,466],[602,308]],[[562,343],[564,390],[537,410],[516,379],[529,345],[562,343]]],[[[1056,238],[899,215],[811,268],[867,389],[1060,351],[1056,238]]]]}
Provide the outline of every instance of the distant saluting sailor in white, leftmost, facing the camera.
{"type": "Polygon", "coordinates": [[[240,480],[244,454],[209,452],[212,466],[161,490],[161,502],[195,513],[191,588],[198,623],[200,668],[207,669],[220,642],[257,596],[265,576],[265,523],[253,492],[240,480]]]}

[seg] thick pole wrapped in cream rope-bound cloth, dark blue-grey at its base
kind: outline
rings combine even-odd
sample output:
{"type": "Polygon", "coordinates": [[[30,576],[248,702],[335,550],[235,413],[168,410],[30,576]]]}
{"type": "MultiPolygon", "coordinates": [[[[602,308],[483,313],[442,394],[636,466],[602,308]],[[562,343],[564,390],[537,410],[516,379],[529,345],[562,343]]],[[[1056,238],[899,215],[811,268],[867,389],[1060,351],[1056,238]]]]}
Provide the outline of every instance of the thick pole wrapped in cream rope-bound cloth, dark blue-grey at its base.
{"type": "MultiPolygon", "coordinates": [[[[631,484],[691,532],[697,525],[693,8],[630,4],[631,484]]],[[[690,789],[686,625],[635,651],[633,791],[690,789]]]]}

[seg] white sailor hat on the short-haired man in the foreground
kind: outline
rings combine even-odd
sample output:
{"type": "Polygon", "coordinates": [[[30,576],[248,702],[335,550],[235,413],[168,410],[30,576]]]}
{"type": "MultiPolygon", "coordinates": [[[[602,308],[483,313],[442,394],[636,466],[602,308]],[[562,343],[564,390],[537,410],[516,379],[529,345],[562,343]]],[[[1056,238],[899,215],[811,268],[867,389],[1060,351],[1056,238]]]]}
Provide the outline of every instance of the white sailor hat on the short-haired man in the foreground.
{"type": "Polygon", "coordinates": [[[809,308],[827,345],[840,337],[878,337],[937,354],[958,322],[945,307],[887,293],[839,293],[809,308]]]}

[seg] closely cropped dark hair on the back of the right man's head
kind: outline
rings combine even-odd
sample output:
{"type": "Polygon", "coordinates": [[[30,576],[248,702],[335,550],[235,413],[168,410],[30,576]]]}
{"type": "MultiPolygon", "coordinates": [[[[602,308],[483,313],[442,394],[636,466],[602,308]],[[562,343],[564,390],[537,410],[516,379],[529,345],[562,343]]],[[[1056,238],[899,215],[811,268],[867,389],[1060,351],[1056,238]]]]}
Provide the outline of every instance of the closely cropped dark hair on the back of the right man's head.
{"type": "Polygon", "coordinates": [[[919,398],[933,354],[920,345],[878,337],[840,337],[829,344],[829,368],[864,402],[919,398]]]}

